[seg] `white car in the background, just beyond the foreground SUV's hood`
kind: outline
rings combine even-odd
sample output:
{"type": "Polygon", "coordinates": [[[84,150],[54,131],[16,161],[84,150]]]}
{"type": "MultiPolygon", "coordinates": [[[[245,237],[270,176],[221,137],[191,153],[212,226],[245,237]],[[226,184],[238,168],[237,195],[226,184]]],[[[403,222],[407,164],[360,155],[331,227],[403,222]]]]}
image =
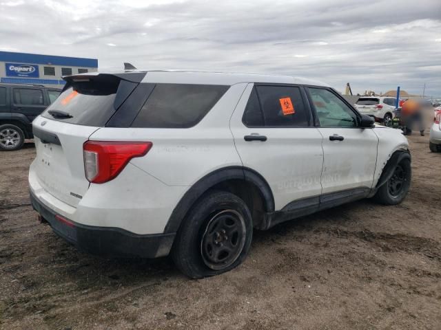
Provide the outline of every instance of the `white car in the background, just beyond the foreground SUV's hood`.
{"type": "Polygon", "coordinates": [[[381,122],[384,126],[392,126],[396,100],[389,96],[361,96],[355,107],[360,113],[371,115],[376,122],[381,122]]]}

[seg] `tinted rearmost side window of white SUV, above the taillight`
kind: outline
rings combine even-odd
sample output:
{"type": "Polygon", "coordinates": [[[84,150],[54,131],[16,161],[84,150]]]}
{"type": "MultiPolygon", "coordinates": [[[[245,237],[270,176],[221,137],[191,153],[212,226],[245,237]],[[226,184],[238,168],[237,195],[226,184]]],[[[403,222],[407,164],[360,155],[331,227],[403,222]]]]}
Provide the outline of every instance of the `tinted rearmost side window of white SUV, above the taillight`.
{"type": "Polygon", "coordinates": [[[156,84],[132,127],[188,128],[196,125],[229,86],[156,84]]]}

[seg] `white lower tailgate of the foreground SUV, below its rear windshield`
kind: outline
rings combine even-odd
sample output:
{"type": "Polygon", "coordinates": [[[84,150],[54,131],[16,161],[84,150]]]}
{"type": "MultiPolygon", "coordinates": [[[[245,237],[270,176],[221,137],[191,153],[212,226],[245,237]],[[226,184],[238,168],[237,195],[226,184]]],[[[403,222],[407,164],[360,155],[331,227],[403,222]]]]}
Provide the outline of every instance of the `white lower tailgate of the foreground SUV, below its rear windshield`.
{"type": "Polygon", "coordinates": [[[99,129],[39,116],[33,122],[37,157],[35,175],[52,196],[76,207],[89,188],[84,173],[83,144],[99,129]]]}

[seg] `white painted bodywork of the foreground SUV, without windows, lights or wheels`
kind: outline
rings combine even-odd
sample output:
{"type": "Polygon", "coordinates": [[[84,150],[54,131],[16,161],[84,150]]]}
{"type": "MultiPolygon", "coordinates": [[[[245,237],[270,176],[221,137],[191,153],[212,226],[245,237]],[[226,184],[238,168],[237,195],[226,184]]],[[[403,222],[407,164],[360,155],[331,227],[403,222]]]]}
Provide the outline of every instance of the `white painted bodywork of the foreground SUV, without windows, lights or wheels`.
{"type": "Polygon", "coordinates": [[[315,81],[254,74],[148,72],[143,83],[231,87],[189,129],[99,128],[39,116],[34,126],[46,122],[44,130],[56,133],[61,141],[57,146],[35,138],[37,157],[30,166],[29,184],[45,206],[77,223],[156,234],[164,231],[185,192],[218,168],[245,166],[262,175],[280,210],[305,197],[371,188],[392,153],[407,149],[399,131],[380,127],[250,129],[243,124],[253,83],[327,86],[315,81]],[[267,142],[245,142],[243,136],[252,133],[266,135],[267,142]],[[344,135],[345,140],[329,141],[334,133],[344,135]],[[144,157],[132,159],[115,179],[90,184],[83,166],[83,144],[88,140],[150,141],[153,146],[144,157]]]}

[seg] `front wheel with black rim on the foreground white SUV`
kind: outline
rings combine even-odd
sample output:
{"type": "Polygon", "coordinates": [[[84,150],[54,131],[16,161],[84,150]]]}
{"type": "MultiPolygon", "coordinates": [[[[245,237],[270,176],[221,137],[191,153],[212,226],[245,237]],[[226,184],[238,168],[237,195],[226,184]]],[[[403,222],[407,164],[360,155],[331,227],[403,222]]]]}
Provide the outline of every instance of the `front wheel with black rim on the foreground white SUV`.
{"type": "Polygon", "coordinates": [[[402,159],[393,169],[392,177],[378,189],[374,199],[384,205],[401,203],[409,192],[411,177],[411,162],[407,158],[402,159]]]}

